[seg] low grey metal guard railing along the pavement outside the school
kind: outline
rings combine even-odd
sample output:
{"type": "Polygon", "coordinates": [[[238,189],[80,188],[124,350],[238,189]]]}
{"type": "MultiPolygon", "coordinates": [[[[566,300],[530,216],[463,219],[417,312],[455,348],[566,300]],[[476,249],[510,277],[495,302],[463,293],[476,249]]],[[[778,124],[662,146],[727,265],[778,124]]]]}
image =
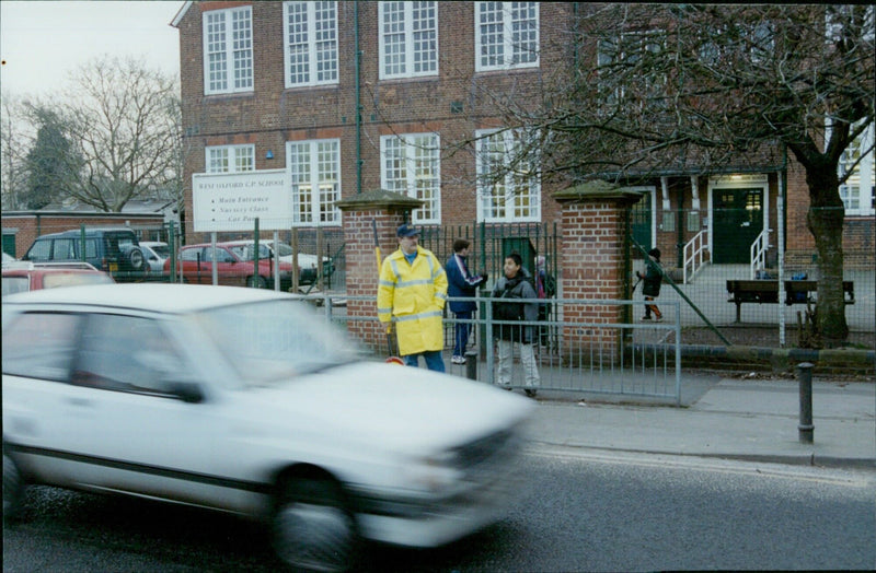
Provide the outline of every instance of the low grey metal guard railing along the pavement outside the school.
{"type": "MultiPolygon", "coordinates": [[[[306,299],[318,304],[326,319],[347,327],[348,331],[370,331],[371,337],[359,340],[376,356],[394,353],[388,348],[382,325],[374,316],[351,316],[345,303],[373,301],[367,296],[341,297],[334,294],[309,295],[306,299]],[[351,323],[357,323],[350,328],[351,323]],[[369,325],[370,324],[370,325],[369,325]],[[370,329],[367,328],[370,326],[370,329]],[[365,327],[365,328],[364,328],[365,327]]],[[[679,304],[667,304],[662,323],[604,321],[604,316],[623,316],[624,306],[642,306],[634,301],[568,300],[552,299],[555,309],[549,320],[508,323],[496,320],[492,315],[489,297],[451,299],[475,301],[479,312],[471,320],[456,318],[452,313],[445,318],[445,363],[448,371],[466,375],[468,364],[453,365],[450,353],[453,347],[453,329],[457,324],[474,327],[469,338],[466,360],[476,361],[476,379],[495,384],[497,381],[497,352],[494,334],[500,325],[532,327],[535,329],[535,361],[541,384],[539,390],[578,395],[612,395],[652,397],[680,405],[681,401],[681,323],[679,304]],[[592,316],[587,319],[570,319],[569,316],[592,316]]],[[[526,302],[545,303],[535,299],[526,302]]],[[[523,372],[519,364],[519,348],[515,344],[512,388],[525,388],[523,372]]]]}

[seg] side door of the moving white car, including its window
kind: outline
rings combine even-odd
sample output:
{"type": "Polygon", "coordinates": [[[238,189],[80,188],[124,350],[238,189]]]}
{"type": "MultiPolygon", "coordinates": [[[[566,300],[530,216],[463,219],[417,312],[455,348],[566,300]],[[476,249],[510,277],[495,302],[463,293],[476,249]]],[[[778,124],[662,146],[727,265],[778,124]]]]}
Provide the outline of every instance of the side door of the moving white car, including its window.
{"type": "Polygon", "coordinates": [[[197,384],[198,369],[172,340],[153,318],[89,314],[48,434],[90,489],[222,506],[215,444],[226,424],[215,402],[174,393],[174,383],[197,384]]]}

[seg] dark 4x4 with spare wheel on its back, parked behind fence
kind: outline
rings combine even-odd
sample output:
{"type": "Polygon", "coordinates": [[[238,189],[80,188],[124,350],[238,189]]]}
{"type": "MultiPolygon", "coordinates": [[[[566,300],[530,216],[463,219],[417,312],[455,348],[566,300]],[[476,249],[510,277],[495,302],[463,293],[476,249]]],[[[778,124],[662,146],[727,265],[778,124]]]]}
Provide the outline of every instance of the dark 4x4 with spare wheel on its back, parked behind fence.
{"type": "Polygon", "coordinates": [[[82,257],[82,230],[73,229],[36,237],[22,260],[33,262],[77,262],[84,260],[108,272],[118,282],[145,280],[149,265],[137,234],[129,227],[85,229],[85,256],[82,257]]]}

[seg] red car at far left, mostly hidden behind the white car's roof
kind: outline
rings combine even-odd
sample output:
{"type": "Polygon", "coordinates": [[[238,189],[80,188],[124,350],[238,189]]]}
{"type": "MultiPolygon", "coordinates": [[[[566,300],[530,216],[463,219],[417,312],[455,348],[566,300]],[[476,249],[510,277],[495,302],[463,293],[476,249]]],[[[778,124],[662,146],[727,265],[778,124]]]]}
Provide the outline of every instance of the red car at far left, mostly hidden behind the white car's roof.
{"type": "Polygon", "coordinates": [[[5,265],[2,272],[3,296],[41,289],[115,282],[110,274],[88,262],[18,261],[5,265]]]}

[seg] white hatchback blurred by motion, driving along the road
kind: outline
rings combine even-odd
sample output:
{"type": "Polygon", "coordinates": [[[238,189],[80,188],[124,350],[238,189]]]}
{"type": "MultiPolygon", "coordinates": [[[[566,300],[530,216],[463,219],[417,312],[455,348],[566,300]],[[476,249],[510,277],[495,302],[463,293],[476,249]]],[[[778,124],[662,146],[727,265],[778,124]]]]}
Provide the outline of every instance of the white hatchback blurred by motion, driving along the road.
{"type": "Polygon", "coordinates": [[[362,360],[298,295],[122,284],[3,300],[3,515],[25,483],[268,521],[298,569],[434,547],[520,491],[531,400],[362,360]]]}

